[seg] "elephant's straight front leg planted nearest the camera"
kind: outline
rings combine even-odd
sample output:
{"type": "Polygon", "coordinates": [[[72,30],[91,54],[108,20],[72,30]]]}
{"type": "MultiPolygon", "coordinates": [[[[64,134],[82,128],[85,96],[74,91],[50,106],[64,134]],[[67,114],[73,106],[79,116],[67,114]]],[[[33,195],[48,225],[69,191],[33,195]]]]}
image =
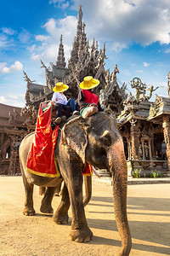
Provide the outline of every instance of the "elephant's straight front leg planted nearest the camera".
{"type": "Polygon", "coordinates": [[[93,233],[88,228],[82,202],[82,168],[80,172],[77,166],[72,166],[67,173],[67,187],[69,190],[72,211],[71,233],[69,238],[73,241],[86,242],[90,241],[93,233]],[[75,172],[76,171],[76,172],[75,172]]]}

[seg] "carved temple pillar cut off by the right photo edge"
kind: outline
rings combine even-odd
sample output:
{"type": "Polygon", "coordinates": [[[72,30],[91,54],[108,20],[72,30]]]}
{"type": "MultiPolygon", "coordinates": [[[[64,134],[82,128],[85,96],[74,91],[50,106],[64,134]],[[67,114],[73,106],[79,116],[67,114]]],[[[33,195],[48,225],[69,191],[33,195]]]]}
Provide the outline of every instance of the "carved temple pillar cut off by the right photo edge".
{"type": "Polygon", "coordinates": [[[167,145],[167,166],[168,166],[168,171],[170,171],[170,123],[169,123],[169,118],[164,117],[163,118],[163,135],[165,139],[165,143],[167,145]]]}

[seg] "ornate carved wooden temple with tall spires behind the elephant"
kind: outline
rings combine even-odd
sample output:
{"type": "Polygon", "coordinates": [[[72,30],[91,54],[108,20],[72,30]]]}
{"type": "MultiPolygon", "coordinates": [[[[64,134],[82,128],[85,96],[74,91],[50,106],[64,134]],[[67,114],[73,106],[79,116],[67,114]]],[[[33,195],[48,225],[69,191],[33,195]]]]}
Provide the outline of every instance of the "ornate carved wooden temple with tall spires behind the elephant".
{"type": "MultiPolygon", "coordinates": [[[[85,23],[82,21],[82,6],[77,12],[77,34],[68,64],[65,63],[62,35],[56,56],[56,62],[51,62],[49,67],[41,60],[41,67],[44,68],[46,76],[44,85],[36,84],[24,71],[25,108],[0,104],[3,109],[1,113],[4,113],[4,116],[0,114],[0,174],[20,173],[20,141],[27,133],[35,131],[39,105],[51,100],[56,82],[68,84],[69,90],[65,91],[65,96],[73,97],[77,101],[79,84],[85,76],[91,75],[100,81],[94,92],[99,96],[102,108],[116,116],[124,141],[128,174],[131,175],[138,169],[146,176],[153,170],[167,175],[170,171],[169,97],[156,96],[156,101],[150,102],[152,92],[156,89],[150,87],[149,95],[146,96],[146,85],[139,78],[131,81],[132,88],[136,90],[135,96],[131,93],[127,96],[127,85],[118,84],[116,79],[116,74],[119,73],[117,65],[112,68],[112,72],[110,69],[105,70],[105,44],[99,49],[97,41],[93,41],[91,46],[88,43],[85,23]]],[[[169,80],[168,83],[170,88],[169,80]]]]}

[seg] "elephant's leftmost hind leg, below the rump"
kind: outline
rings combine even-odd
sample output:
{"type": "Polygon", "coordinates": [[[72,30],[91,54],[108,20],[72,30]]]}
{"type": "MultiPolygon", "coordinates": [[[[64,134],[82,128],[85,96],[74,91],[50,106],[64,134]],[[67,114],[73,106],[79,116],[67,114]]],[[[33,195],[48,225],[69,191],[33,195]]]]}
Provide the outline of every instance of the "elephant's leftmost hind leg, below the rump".
{"type": "Polygon", "coordinates": [[[34,185],[27,183],[26,176],[24,173],[22,173],[22,178],[23,178],[23,183],[24,183],[25,192],[26,192],[25,208],[23,210],[23,213],[26,216],[31,216],[36,213],[33,207],[33,199],[32,199],[34,185]]]}

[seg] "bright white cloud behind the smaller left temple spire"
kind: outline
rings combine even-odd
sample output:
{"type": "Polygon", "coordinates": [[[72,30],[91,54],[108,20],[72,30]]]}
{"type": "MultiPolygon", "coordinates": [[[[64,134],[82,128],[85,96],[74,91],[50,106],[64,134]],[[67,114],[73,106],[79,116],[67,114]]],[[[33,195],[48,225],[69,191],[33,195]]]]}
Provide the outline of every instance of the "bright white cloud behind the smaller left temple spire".
{"type": "Polygon", "coordinates": [[[71,45],[76,35],[77,17],[67,16],[64,19],[49,19],[43,26],[48,36],[37,35],[36,40],[42,42],[41,45],[32,44],[27,49],[31,52],[31,60],[52,62],[57,60],[59,49],[59,38],[63,35],[65,49],[65,61],[70,57],[71,45]]]}

